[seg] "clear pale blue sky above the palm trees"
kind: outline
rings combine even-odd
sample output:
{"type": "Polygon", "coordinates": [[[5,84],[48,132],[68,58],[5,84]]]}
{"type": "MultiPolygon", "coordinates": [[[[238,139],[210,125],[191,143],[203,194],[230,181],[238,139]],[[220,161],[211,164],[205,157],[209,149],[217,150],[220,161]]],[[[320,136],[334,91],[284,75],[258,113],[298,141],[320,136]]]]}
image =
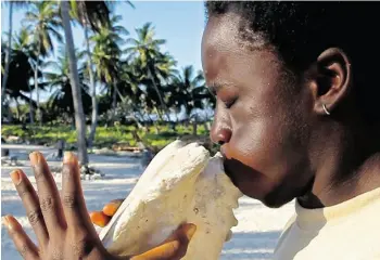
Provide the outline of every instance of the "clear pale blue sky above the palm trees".
{"type": "MultiPolygon", "coordinates": [[[[135,9],[127,3],[119,2],[115,6],[115,14],[123,16],[123,25],[136,37],[135,28],[152,22],[156,38],[166,39],[163,51],[168,51],[178,62],[178,68],[193,65],[202,69],[201,39],[205,26],[203,1],[131,1],[135,9]]],[[[22,26],[24,10],[16,10],[13,14],[13,31],[22,26]]],[[[9,29],[9,8],[1,4],[1,30],[9,29]]],[[[84,32],[79,26],[72,27],[74,41],[77,47],[85,47],[84,32]]]]}

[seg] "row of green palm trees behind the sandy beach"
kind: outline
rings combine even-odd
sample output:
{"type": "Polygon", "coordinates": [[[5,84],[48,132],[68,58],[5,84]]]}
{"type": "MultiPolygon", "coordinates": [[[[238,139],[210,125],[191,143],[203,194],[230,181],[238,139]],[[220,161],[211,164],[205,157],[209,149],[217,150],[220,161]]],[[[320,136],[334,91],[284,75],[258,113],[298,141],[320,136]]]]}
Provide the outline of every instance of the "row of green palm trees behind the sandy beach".
{"type": "Polygon", "coordinates": [[[130,1],[2,4],[8,4],[10,12],[10,27],[1,42],[5,50],[1,53],[2,120],[8,113],[16,122],[73,123],[84,165],[100,121],[142,127],[166,121],[175,127],[180,112],[188,120],[197,109],[215,106],[202,72],[191,65],[178,69],[175,57],[162,51],[166,41],[156,38],[151,23],[136,28],[136,37],[121,25],[115,5],[135,8],[130,1]],[[16,9],[26,12],[22,28],[13,31],[16,9]],[[81,27],[85,42],[77,46],[84,48],[75,49],[72,26],[81,27]],[[40,102],[41,91],[50,93],[47,102],[40,102]]]}

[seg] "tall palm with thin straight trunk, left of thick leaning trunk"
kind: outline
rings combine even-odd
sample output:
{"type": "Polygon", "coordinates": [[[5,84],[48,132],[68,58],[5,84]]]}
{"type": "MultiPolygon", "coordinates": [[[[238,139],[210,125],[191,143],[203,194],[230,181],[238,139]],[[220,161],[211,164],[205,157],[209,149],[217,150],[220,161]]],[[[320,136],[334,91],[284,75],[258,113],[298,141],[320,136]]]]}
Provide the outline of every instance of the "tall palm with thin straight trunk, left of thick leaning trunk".
{"type": "MultiPolygon", "coordinates": [[[[52,36],[62,42],[62,36],[59,32],[61,27],[61,20],[59,16],[59,8],[55,1],[35,1],[30,5],[30,11],[26,12],[25,22],[35,31],[36,56],[46,56],[53,52],[52,36]]],[[[36,62],[35,68],[35,89],[37,92],[37,118],[41,119],[39,107],[39,89],[38,89],[38,66],[39,61],[36,62]]],[[[41,123],[41,120],[39,120],[41,123]]]]}

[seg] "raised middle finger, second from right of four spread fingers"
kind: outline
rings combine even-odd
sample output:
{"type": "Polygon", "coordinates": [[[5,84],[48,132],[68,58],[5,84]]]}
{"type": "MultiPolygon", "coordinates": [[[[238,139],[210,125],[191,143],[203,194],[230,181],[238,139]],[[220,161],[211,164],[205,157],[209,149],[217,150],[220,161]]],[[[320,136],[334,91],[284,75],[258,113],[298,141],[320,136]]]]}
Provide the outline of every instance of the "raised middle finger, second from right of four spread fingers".
{"type": "Polygon", "coordinates": [[[42,154],[34,152],[29,158],[35,171],[39,204],[48,233],[54,233],[65,225],[60,194],[42,154]]]}

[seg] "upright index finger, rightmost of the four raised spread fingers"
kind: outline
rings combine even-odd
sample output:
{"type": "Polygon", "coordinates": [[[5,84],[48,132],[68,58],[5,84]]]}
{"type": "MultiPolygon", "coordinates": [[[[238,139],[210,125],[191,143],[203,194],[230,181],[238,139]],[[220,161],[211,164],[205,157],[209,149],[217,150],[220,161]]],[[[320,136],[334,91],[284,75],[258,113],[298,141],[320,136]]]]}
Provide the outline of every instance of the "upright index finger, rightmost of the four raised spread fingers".
{"type": "Polygon", "coordinates": [[[63,159],[62,200],[67,226],[88,227],[91,224],[80,185],[78,159],[69,152],[63,159]]]}

